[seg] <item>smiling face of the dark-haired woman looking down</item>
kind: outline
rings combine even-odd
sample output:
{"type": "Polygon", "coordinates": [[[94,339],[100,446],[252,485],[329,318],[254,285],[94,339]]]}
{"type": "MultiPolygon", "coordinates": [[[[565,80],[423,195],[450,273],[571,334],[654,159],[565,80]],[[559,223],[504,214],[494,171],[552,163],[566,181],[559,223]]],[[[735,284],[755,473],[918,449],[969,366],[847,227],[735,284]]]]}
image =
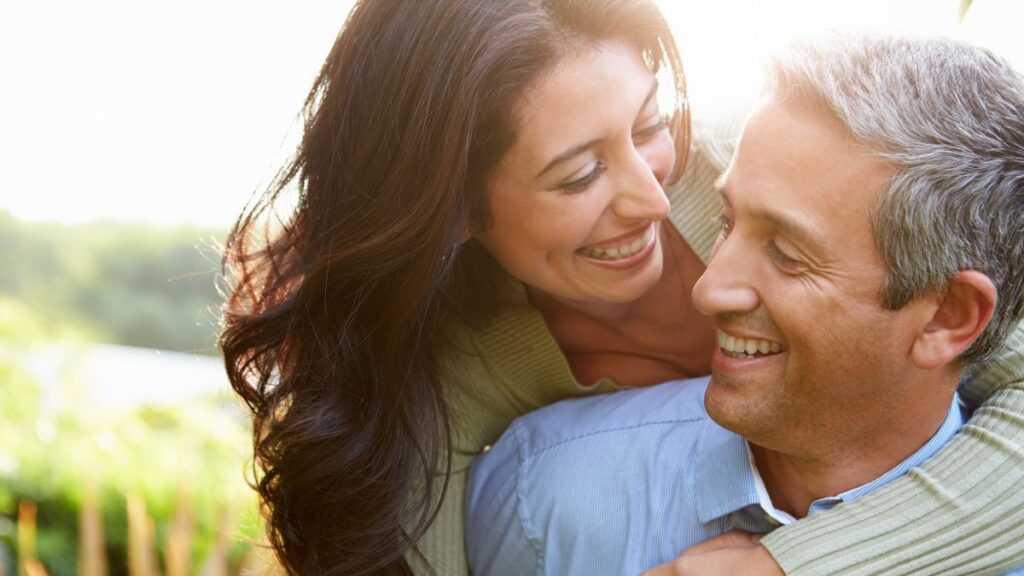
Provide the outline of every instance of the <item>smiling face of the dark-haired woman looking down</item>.
{"type": "Polygon", "coordinates": [[[514,277],[569,305],[631,302],[662,275],[662,189],[675,163],[639,50],[605,41],[562,57],[518,107],[475,238],[514,277]]]}

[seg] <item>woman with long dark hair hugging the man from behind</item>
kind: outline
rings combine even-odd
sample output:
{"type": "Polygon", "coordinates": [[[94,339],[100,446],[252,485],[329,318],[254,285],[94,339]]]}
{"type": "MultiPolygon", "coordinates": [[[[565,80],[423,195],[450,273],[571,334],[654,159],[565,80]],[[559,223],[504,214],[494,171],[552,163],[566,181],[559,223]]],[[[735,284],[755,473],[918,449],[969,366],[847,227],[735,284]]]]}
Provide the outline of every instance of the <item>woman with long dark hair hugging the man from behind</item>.
{"type": "MultiPolygon", "coordinates": [[[[676,47],[650,2],[356,4],[296,157],[225,253],[221,345],[292,572],[465,573],[465,472],[515,416],[708,372],[713,330],[689,292],[717,234],[712,182],[731,134],[690,146],[688,128],[676,47]],[[655,75],[675,96],[668,115],[655,75]],[[274,218],[291,187],[294,210],[274,218]]],[[[1016,381],[972,421],[1011,450],[961,435],[947,452],[968,446],[1013,481],[1024,424],[1007,416],[1024,413],[1024,392],[1022,359],[1008,358],[968,392],[1016,381]]],[[[967,495],[962,507],[1024,510],[997,483],[963,480],[978,471],[932,474],[967,495]]],[[[884,490],[925,519],[948,511],[905,486],[884,490]]],[[[815,554],[870,549],[858,519],[871,505],[764,542],[813,573],[815,554]]],[[[969,572],[983,551],[963,536],[946,550],[969,572]]]]}

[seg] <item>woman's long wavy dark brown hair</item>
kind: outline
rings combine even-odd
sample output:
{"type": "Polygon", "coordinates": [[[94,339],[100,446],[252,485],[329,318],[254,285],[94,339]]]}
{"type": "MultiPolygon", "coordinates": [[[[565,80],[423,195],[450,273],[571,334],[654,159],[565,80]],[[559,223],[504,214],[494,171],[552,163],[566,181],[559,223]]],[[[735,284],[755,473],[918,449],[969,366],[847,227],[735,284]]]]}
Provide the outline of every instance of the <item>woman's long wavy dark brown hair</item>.
{"type": "Polygon", "coordinates": [[[496,264],[463,240],[487,225],[487,179],[523,91],[569,47],[612,37],[671,78],[676,178],[685,86],[651,2],[356,2],[300,147],[223,260],[220,345],[253,412],[255,488],[291,573],[411,573],[406,554],[451,471],[440,328],[494,305],[481,283],[496,264]]]}

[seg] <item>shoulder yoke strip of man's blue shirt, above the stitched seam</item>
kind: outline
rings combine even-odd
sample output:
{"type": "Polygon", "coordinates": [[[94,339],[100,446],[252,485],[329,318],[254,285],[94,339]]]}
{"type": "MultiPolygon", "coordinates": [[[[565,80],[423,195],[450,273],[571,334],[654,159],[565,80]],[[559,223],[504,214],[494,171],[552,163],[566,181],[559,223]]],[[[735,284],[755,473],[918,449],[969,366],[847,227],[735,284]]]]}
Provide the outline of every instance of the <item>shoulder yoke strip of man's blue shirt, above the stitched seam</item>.
{"type": "Polygon", "coordinates": [[[707,386],[703,377],[565,400],[520,416],[508,435],[515,436],[521,455],[528,457],[594,435],[702,421],[708,418],[707,386]]]}

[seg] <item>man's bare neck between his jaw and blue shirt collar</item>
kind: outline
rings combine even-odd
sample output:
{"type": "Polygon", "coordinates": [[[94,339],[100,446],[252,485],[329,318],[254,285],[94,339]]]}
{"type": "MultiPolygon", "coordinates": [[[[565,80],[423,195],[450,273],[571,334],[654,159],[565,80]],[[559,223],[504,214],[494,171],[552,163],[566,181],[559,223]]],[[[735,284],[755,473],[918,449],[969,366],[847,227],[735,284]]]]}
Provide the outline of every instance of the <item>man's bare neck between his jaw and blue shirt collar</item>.
{"type": "Polygon", "coordinates": [[[784,453],[751,443],[758,472],[775,508],[804,518],[815,500],[863,486],[899,465],[936,434],[948,416],[949,403],[932,417],[889,426],[864,443],[850,443],[812,457],[784,453]]]}

